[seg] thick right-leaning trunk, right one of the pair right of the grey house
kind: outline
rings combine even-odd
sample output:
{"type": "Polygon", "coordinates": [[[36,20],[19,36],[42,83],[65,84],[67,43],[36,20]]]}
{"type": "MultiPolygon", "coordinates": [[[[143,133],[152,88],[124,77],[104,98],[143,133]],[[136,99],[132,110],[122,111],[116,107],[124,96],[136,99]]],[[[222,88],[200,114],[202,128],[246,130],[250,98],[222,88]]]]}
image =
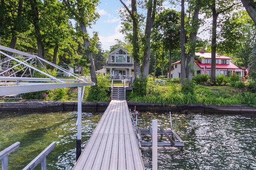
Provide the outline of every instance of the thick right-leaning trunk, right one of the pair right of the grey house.
{"type": "Polygon", "coordinates": [[[157,0],[154,0],[154,4],[153,4],[153,0],[149,0],[147,6],[148,6],[148,11],[147,11],[146,28],[145,28],[145,51],[144,51],[144,58],[142,62],[143,77],[147,77],[149,75],[151,30],[152,30],[152,25],[154,23],[155,16],[156,16],[157,0]]]}

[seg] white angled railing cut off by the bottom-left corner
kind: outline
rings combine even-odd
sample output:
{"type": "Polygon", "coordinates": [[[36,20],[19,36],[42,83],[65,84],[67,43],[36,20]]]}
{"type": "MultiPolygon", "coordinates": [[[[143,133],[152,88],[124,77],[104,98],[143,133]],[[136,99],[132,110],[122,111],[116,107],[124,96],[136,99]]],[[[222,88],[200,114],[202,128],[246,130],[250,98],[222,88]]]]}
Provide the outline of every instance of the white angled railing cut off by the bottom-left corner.
{"type": "Polygon", "coordinates": [[[18,149],[20,142],[15,142],[6,149],[0,152],[1,168],[2,170],[8,170],[8,154],[18,149]]]}

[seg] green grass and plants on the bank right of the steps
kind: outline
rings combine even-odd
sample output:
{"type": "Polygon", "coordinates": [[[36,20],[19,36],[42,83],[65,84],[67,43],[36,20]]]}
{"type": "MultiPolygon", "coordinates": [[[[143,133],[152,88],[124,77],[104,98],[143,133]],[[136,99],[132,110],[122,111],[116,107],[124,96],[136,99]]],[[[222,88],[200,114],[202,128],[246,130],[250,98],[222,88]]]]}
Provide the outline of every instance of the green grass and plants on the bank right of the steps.
{"type": "Polygon", "coordinates": [[[245,104],[256,107],[256,93],[247,92],[245,88],[195,85],[194,91],[189,93],[182,92],[181,84],[157,85],[154,89],[147,88],[147,93],[144,96],[136,94],[134,91],[129,92],[128,100],[157,104],[245,104]]]}

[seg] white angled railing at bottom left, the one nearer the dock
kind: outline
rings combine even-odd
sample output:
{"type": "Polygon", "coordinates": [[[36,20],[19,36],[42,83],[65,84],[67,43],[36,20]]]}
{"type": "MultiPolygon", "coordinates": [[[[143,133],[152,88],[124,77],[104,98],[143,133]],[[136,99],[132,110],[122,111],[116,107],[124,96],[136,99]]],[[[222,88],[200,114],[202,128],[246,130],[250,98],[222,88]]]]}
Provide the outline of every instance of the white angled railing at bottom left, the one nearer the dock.
{"type": "Polygon", "coordinates": [[[35,157],[31,163],[29,163],[23,170],[33,170],[38,164],[41,163],[41,170],[46,170],[46,156],[55,147],[55,142],[52,142],[46,147],[37,157],[35,157]]]}

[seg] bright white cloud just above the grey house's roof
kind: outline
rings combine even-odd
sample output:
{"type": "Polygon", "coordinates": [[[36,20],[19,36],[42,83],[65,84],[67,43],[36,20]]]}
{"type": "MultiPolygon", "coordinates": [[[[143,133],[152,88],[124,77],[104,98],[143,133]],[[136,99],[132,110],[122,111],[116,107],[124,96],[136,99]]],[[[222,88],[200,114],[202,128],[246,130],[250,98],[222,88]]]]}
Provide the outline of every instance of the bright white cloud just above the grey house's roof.
{"type": "Polygon", "coordinates": [[[99,35],[99,40],[102,43],[102,48],[104,50],[109,50],[109,47],[116,43],[115,39],[119,39],[122,41],[124,40],[124,34],[119,32],[120,29],[121,29],[121,24],[117,25],[113,34],[107,35],[107,36],[99,35]]]}

